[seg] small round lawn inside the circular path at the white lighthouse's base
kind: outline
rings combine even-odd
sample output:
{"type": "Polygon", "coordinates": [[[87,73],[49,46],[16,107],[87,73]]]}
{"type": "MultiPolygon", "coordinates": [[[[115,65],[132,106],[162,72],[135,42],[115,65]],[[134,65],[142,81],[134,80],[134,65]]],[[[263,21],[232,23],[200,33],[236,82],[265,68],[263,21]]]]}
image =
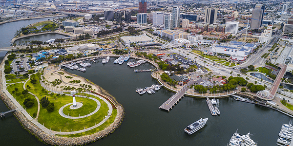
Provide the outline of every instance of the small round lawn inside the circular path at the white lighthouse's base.
{"type": "Polygon", "coordinates": [[[63,109],[63,113],[65,115],[69,114],[69,116],[78,117],[89,114],[89,111],[93,112],[94,110],[96,110],[97,103],[94,100],[82,97],[75,97],[75,99],[76,102],[83,103],[83,106],[76,110],[71,110],[70,106],[67,106],[63,109]]]}

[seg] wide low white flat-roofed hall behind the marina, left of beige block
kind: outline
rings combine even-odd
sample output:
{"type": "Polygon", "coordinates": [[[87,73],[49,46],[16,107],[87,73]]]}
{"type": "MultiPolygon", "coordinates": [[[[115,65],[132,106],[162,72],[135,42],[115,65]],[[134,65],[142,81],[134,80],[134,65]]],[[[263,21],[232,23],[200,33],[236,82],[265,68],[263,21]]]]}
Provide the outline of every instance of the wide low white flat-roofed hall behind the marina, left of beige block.
{"type": "Polygon", "coordinates": [[[140,43],[151,43],[154,40],[150,37],[147,37],[146,34],[141,36],[127,36],[127,37],[120,37],[123,40],[123,44],[126,47],[130,47],[131,44],[140,44],[140,43]]]}

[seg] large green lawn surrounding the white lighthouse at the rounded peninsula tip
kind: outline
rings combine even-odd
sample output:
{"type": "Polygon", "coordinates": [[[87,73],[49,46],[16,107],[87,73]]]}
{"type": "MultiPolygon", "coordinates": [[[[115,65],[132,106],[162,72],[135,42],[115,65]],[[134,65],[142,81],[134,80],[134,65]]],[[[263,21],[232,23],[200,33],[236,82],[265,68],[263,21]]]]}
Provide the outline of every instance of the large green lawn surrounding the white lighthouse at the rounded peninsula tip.
{"type": "MultiPolygon", "coordinates": [[[[68,103],[72,103],[72,96],[57,96],[57,94],[54,94],[53,96],[51,96],[50,94],[47,93],[47,91],[42,91],[42,87],[40,85],[39,82],[37,82],[35,85],[33,85],[30,81],[27,82],[27,85],[29,85],[31,88],[29,89],[29,91],[31,91],[32,93],[34,93],[35,95],[37,95],[39,97],[39,99],[41,99],[42,97],[46,96],[48,97],[48,100],[50,102],[54,103],[54,111],[53,112],[48,112],[46,109],[43,109],[41,107],[40,110],[40,114],[39,114],[39,118],[38,121],[41,124],[44,124],[44,126],[46,128],[51,128],[51,130],[54,131],[63,131],[63,132],[69,132],[71,131],[71,129],[73,131],[78,131],[78,130],[82,130],[84,128],[90,128],[92,126],[98,123],[100,123],[103,118],[105,118],[105,116],[107,115],[107,112],[109,110],[109,108],[107,107],[107,104],[100,98],[94,97],[97,100],[100,101],[101,103],[101,107],[99,109],[98,112],[96,112],[95,114],[86,117],[86,118],[82,118],[82,119],[67,119],[62,117],[59,114],[59,109],[68,104],[68,103]]],[[[90,95],[87,95],[90,96],[90,95]]],[[[93,97],[93,96],[92,96],[93,97]]],[[[86,99],[86,98],[80,98],[80,97],[76,97],[77,102],[83,102],[84,104],[84,108],[83,109],[79,109],[81,113],[87,112],[89,113],[89,110],[94,111],[95,106],[97,106],[96,102],[90,99],[86,99]],[[90,102],[90,103],[89,103],[90,102]],[[87,109],[87,108],[91,108],[91,109],[87,109]]],[[[69,106],[68,106],[69,107],[69,106]]],[[[111,117],[113,116],[113,118],[115,119],[117,112],[115,112],[116,109],[113,109],[113,113],[111,115],[111,117]]],[[[88,114],[86,113],[86,114],[88,114]]],[[[72,112],[72,110],[70,111],[69,115],[77,115],[77,112],[72,112]]],[[[81,115],[82,116],[82,115],[81,115]]],[[[69,135],[71,137],[75,137],[75,136],[82,136],[84,134],[92,134],[95,132],[98,132],[102,129],[104,129],[105,127],[109,126],[111,123],[113,123],[114,120],[107,120],[107,122],[105,122],[105,124],[103,124],[102,126],[100,126],[99,128],[95,128],[91,131],[88,132],[84,132],[81,134],[77,134],[77,135],[69,135]]],[[[68,135],[66,135],[66,137],[69,137],[68,135]]]]}

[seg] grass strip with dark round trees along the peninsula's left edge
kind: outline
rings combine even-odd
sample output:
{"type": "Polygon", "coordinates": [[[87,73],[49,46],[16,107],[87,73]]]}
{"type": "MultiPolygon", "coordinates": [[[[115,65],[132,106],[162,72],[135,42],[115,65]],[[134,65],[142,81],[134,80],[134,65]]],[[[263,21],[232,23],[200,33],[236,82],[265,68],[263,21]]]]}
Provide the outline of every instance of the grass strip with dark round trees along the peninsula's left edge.
{"type": "Polygon", "coordinates": [[[20,103],[20,105],[26,109],[26,111],[31,115],[33,116],[33,113],[37,113],[38,112],[38,102],[35,98],[35,96],[33,96],[32,94],[30,93],[27,93],[25,95],[21,94],[21,91],[23,91],[23,83],[16,83],[16,84],[12,84],[12,85],[9,85],[7,87],[7,91],[10,92],[10,94],[20,103]],[[15,91],[15,88],[18,88],[18,91],[15,91]],[[13,91],[15,91],[13,93],[13,91]],[[31,98],[31,99],[34,99],[34,106],[31,107],[31,108],[26,108],[24,105],[23,105],[23,101],[26,99],[26,98],[31,98]]]}

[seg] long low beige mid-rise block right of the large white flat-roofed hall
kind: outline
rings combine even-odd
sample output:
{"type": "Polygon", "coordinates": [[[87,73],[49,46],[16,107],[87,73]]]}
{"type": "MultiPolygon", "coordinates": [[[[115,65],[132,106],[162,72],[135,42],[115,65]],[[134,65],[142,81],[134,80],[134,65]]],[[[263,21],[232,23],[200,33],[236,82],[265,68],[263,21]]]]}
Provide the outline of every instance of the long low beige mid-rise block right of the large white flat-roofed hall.
{"type": "Polygon", "coordinates": [[[187,36],[189,35],[188,33],[180,31],[180,30],[158,30],[157,34],[161,37],[167,37],[170,40],[174,40],[176,38],[187,39],[187,36]]]}

